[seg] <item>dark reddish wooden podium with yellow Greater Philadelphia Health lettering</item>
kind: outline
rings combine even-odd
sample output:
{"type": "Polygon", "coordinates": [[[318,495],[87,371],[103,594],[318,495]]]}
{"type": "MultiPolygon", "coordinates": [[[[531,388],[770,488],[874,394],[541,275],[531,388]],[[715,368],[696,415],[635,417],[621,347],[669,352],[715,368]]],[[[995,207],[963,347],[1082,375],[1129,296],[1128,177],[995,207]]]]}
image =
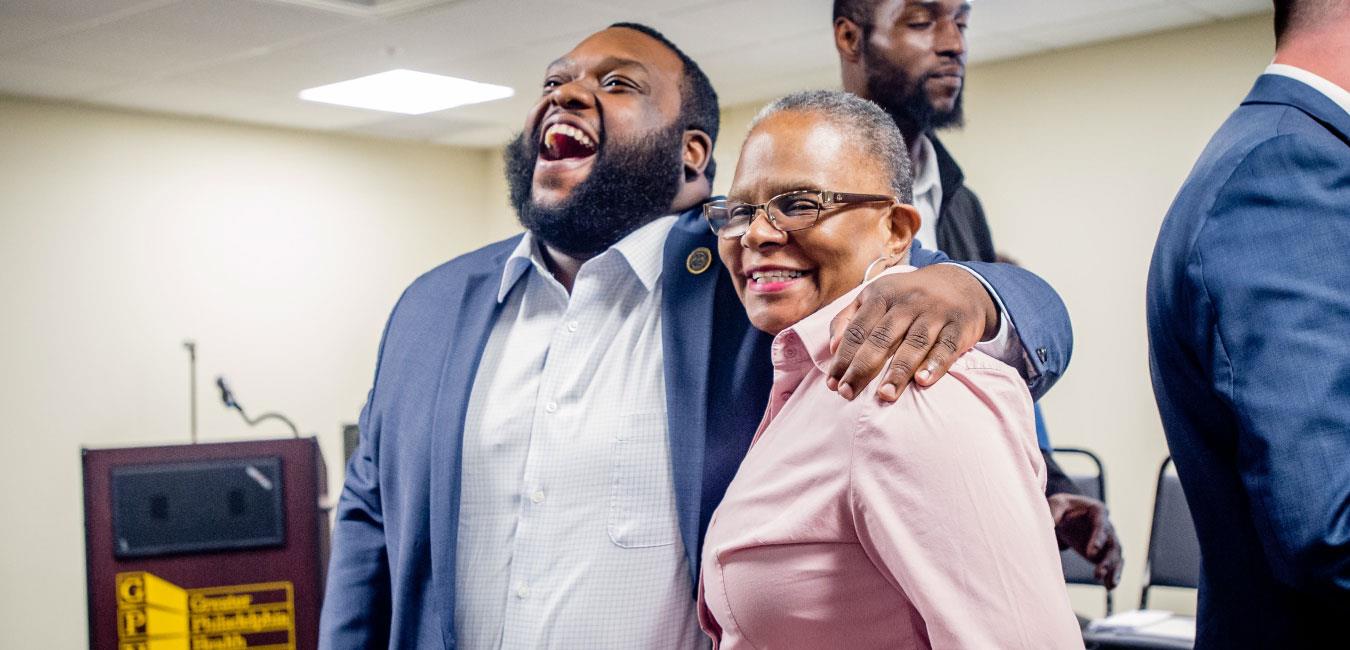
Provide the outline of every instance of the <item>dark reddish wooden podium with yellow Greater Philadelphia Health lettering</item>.
{"type": "Polygon", "coordinates": [[[317,647],[328,514],[313,438],[82,459],[89,647],[317,647]]]}

